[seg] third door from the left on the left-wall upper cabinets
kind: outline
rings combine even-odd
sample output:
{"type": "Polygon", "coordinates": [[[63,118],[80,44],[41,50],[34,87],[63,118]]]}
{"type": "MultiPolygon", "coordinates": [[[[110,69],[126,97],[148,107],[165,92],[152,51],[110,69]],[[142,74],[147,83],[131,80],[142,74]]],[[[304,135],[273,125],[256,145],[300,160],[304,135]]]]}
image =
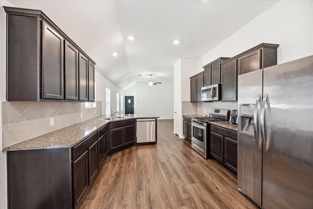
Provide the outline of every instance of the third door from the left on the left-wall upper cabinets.
{"type": "Polygon", "coordinates": [[[79,54],[79,100],[88,101],[88,59],[79,54]]]}

